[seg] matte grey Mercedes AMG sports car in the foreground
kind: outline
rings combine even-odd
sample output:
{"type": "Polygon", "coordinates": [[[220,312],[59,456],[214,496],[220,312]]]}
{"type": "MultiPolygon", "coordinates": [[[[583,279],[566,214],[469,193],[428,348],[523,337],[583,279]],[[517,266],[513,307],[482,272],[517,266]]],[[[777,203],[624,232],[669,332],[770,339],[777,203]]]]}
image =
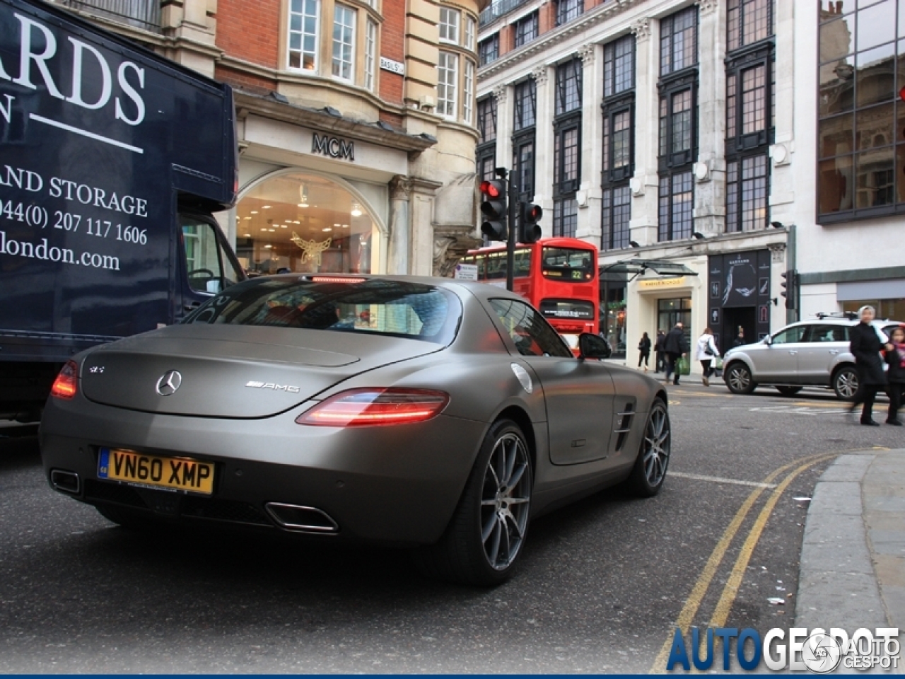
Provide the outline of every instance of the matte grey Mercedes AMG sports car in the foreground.
{"type": "Polygon", "coordinates": [[[614,483],[662,487],[662,386],[595,360],[595,335],[580,347],[484,283],[258,278],[71,360],[44,469],[123,525],[411,545],[440,577],[493,584],[531,517],[614,483]]]}

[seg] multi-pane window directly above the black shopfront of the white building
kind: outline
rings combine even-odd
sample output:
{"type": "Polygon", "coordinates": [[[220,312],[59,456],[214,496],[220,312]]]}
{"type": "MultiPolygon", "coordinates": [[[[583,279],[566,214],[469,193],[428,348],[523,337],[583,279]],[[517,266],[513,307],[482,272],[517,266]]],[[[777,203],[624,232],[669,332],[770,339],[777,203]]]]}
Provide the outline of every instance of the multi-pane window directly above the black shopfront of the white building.
{"type": "Polygon", "coordinates": [[[730,160],[726,164],[726,231],[753,231],[769,223],[769,159],[767,155],[730,160]]]}

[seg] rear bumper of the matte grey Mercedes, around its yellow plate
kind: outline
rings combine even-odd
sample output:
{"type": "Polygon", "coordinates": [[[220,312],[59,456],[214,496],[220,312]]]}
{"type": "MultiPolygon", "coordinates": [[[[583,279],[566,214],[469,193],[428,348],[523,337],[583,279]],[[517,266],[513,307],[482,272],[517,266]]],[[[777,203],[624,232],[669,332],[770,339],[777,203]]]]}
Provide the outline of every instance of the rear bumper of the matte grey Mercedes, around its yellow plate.
{"type": "Polygon", "coordinates": [[[157,416],[81,397],[68,403],[50,399],[41,426],[44,472],[49,481],[53,470],[78,474],[77,492],[58,490],[81,502],[128,506],[170,521],[289,530],[266,509],[277,502],[324,512],[337,525],[334,540],[428,544],[439,540],[450,521],[486,430],[482,423],[448,416],[417,425],[338,429],[297,425],[297,415],[157,416]],[[99,480],[100,447],[211,462],[214,493],[99,480]]]}

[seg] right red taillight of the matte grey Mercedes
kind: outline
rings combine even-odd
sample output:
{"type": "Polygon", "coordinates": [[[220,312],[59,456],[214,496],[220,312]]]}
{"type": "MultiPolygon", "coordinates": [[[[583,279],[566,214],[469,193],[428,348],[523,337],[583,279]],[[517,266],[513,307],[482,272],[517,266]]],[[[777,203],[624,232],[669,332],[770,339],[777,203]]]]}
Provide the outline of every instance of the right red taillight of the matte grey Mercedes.
{"type": "Polygon", "coordinates": [[[343,391],[296,418],[300,425],[383,426],[424,422],[449,403],[443,391],[367,388],[343,391]]]}

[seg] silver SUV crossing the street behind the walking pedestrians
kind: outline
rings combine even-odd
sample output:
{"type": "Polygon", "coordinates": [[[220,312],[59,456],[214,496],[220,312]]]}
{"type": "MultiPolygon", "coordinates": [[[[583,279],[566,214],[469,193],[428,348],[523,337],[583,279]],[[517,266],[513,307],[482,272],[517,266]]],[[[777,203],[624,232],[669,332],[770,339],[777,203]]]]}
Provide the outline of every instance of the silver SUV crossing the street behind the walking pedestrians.
{"type": "MultiPolygon", "coordinates": [[[[792,396],[805,385],[832,387],[836,396],[852,400],[858,391],[858,371],[849,352],[852,316],[817,314],[767,335],[755,344],[729,349],[723,357],[723,379],[733,394],[750,394],[758,385],[776,387],[792,396]]],[[[897,320],[874,320],[888,337],[897,320]]]]}

